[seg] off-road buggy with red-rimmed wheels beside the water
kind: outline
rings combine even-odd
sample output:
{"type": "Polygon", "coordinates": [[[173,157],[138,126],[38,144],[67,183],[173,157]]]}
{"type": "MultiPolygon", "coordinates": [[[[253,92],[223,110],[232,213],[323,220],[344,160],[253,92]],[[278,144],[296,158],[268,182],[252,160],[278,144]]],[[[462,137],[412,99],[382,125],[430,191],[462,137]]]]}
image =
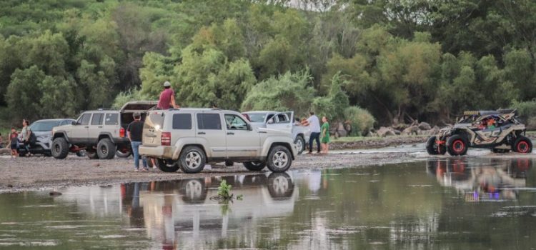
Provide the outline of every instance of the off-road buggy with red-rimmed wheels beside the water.
{"type": "Polygon", "coordinates": [[[428,154],[462,156],[469,147],[491,149],[496,153],[532,152],[532,141],[525,137],[525,124],[517,121],[515,109],[465,111],[453,126],[447,126],[426,142],[428,154]]]}

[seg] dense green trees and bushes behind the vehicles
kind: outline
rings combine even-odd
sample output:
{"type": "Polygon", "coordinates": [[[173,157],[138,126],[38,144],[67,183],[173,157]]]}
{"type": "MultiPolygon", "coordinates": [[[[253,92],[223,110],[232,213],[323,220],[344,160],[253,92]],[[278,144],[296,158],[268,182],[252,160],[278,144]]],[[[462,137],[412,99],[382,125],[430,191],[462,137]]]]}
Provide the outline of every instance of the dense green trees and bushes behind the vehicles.
{"type": "Polygon", "coordinates": [[[72,117],[171,81],[182,106],[448,122],[536,97],[535,13],[531,0],[4,0],[0,110],[72,117]]]}

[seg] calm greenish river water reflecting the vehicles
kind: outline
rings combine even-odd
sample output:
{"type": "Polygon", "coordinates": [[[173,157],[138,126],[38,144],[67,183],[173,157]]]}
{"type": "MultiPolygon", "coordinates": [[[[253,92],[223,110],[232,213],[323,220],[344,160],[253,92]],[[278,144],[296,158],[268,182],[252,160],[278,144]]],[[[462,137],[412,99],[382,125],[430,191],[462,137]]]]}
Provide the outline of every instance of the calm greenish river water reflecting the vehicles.
{"type": "Polygon", "coordinates": [[[530,159],[0,194],[0,249],[534,249],[530,159]],[[243,199],[211,199],[222,180],[243,199]]]}

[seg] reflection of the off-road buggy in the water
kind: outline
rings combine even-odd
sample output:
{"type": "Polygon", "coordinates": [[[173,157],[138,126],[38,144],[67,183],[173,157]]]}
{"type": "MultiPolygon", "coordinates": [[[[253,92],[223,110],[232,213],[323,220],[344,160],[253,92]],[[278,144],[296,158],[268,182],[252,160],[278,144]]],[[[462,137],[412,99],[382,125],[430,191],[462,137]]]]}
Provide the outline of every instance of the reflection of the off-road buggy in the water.
{"type": "Polygon", "coordinates": [[[517,199],[517,188],[525,187],[531,159],[431,159],[427,173],[442,186],[455,187],[466,201],[517,199]],[[475,162],[472,162],[475,161],[475,162]]]}

